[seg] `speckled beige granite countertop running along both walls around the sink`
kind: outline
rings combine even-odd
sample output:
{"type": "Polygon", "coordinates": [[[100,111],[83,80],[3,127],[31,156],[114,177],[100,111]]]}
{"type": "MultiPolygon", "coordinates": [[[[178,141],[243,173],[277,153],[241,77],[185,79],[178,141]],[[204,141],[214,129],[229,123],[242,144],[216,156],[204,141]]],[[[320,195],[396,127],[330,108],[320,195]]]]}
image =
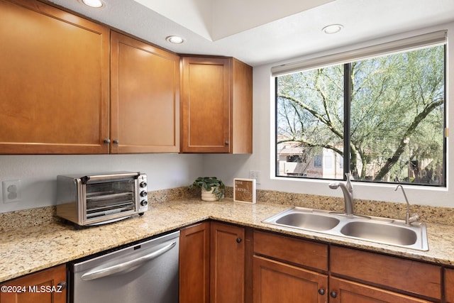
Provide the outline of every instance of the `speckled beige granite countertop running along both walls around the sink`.
{"type": "Polygon", "coordinates": [[[427,224],[429,250],[419,251],[323,233],[279,228],[279,226],[261,222],[290,207],[268,203],[243,204],[231,200],[201,202],[198,199],[182,199],[150,204],[149,210],[143,216],[135,216],[103,226],[77,230],[73,226],[54,222],[42,226],[1,231],[0,282],[160,233],[174,231],[205,219],[277,231],[301,238],[363,248],[441,265],[454,265],[454,226],[427,224]]]}

